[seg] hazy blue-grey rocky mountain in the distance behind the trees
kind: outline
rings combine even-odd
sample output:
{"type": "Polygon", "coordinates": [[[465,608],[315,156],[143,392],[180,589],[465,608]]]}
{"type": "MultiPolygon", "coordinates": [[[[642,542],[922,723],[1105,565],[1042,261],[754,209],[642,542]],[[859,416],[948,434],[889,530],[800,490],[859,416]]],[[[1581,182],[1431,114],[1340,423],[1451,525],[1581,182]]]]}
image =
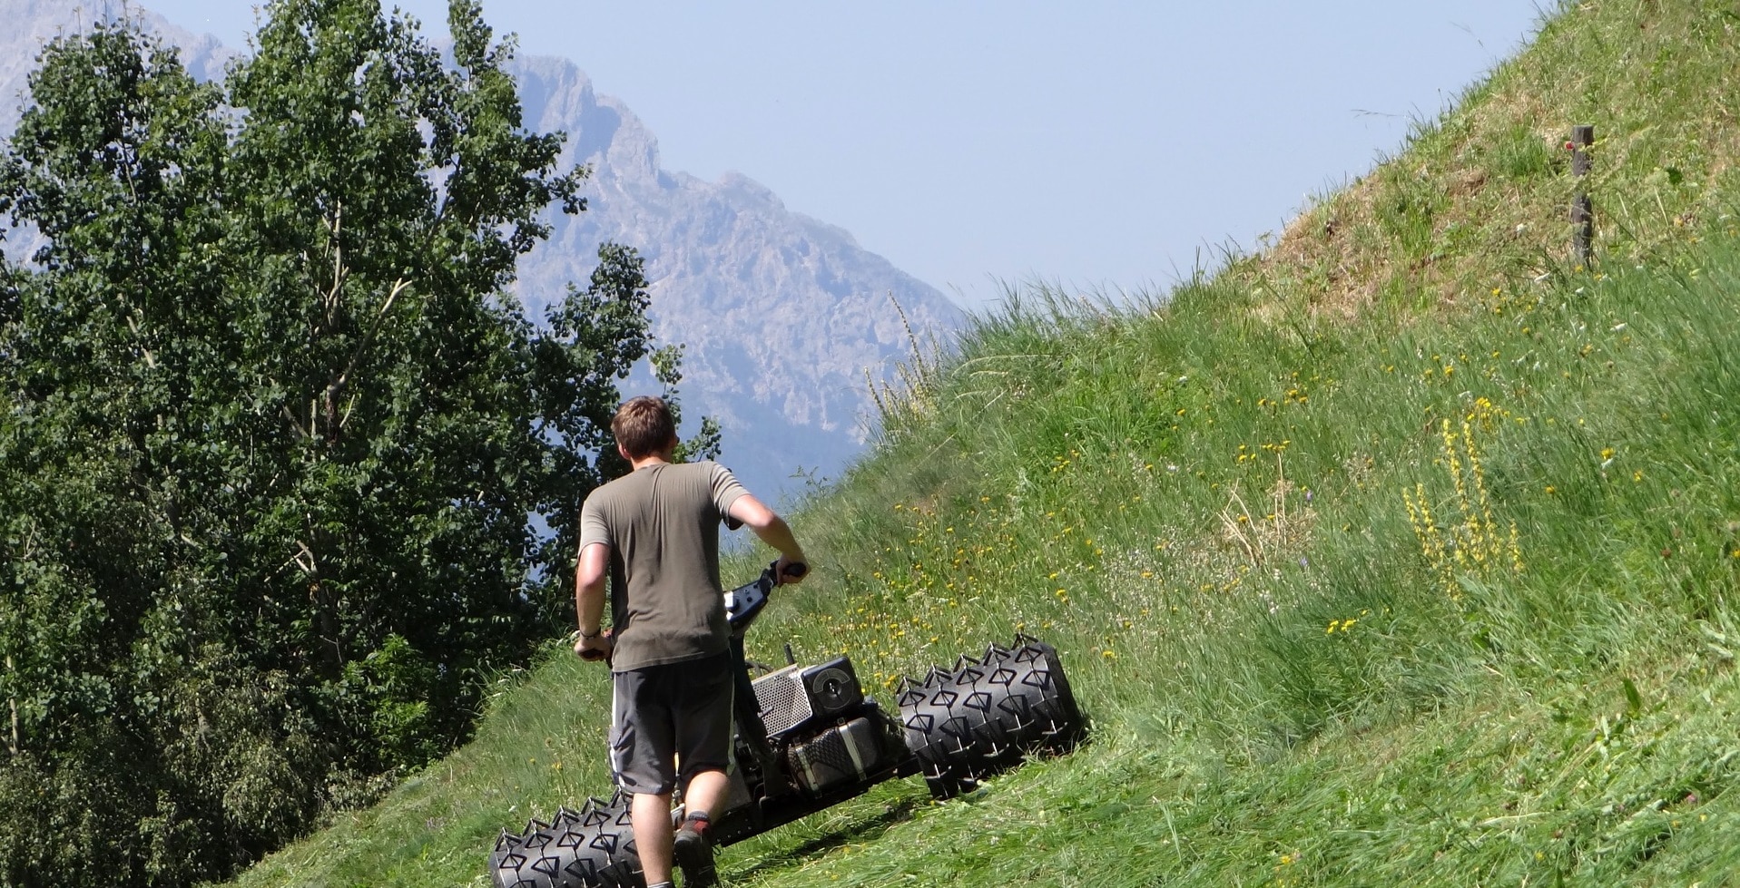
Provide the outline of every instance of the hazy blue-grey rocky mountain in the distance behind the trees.
{"type": "MultiPolygon", "coordinates": [[[[44,42],[124,14],[181,47],[197,76],[221,76],[237,56],[127,3],[0,0],[0,21],[10,24],[0,35],[0,132],[17,123],[44,42]]],[[[835,476],[865,447],[873,407],[867,370],[886,379],[910,356],[908,323],[920,342],[947,339],[962,311],[745,176],[708,182],[665,170],[652,132],[621,101],[597,94],[574,63],[531,56],[515,59],[513,71],[527,129],[566,132],[562,162],[592,169],[586,212],[553,214],[550,240],[520,261],[527,315],[543,318],[567,282],[585,283],[599,243],[635,247],[651,283],[652,328],[659,342],[686,349],[686,426],[717,417],[722,462],[769,499],[800,492],[806,476],[835,476]]],[[[649,379],[630,388],[651,389],[649,379]]]]}

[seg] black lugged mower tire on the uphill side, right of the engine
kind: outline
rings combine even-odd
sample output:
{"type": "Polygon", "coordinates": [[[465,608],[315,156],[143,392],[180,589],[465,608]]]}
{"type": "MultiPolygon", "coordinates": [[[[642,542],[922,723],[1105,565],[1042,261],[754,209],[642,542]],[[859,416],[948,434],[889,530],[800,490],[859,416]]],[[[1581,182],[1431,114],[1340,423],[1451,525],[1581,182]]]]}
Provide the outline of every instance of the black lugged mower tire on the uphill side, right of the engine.
{"type": "Polygon", "coordinates": [[[907,749],[931,794],[947,799],[1020,765],[1030,754],[1075,749],[1088,723],[1051,645],[1016,636],[985,657],[962,657],[898,692],[907,749]]]}

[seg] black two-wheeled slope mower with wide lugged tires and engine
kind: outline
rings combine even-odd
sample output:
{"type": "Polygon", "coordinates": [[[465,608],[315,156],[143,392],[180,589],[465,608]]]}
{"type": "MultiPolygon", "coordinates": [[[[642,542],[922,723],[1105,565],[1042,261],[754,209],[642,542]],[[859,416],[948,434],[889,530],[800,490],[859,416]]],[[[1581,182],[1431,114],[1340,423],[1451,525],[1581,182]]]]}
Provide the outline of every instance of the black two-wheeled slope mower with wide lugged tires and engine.
{"type": "MultiPolygon", "coordinates": [[[[849,657],[773,669],[745,657],[743,634],[778,586],[773,565],[726,593],[736,676],[734,766],[715,846],[743,841],[922,773],[948,799],[1034,754],[1061,754],[1088,733],[1058,652],[1027,634],[960,657],[954,669],[901,679],[889,712],[863,692],[849,657]],[[760,671],[760,678],[752,676],[760,671]]],[[[498,888],[646,888],[628,794],[559,808],[520,832],[501,831],[489,855],[498,888]]],[[[680,822],[680,806],[672,812],[680,822]]]]}

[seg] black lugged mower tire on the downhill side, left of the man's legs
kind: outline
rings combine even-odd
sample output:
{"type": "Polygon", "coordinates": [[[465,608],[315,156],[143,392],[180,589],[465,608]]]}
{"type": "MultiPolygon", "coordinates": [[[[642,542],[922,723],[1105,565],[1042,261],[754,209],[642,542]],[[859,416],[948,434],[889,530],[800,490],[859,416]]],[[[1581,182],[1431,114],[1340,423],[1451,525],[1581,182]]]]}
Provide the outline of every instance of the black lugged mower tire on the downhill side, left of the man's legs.
{"type": "Polygon", "coordinates": [[[496,888],[646,888],[628,801],[616,792],[560,808],[548,824],[531,820],[520,834],[503,829],[489,878],[496,888]]]}

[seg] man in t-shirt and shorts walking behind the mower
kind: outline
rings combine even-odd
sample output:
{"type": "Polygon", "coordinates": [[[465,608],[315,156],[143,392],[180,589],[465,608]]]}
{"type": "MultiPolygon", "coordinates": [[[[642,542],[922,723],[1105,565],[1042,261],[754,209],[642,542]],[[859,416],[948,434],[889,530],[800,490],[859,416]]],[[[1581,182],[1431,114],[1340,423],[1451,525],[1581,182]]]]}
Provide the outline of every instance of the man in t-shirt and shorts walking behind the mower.
{"type": "Polygon", "coordinates": [[[684,888],[710,886],[710,815],[724,799],[731,765],[731,636],[719,584],[719,525],[748,525],[778,549],[781,582],[799,582],[807,561],[785,520],[724,466],[672,462],[677,426],[663,400],[623,403],[611,434],[633,471],[593,490],[581,507],[574,653],[611,666],[611,773],[633,796],[630,817],[647,888],[672,886],[673,855],[684,888]],[[606,575],[609,634],[600,626],[606,575]],[[679,780],[687,817],[673,834],[670,796],[679,780]]]}

